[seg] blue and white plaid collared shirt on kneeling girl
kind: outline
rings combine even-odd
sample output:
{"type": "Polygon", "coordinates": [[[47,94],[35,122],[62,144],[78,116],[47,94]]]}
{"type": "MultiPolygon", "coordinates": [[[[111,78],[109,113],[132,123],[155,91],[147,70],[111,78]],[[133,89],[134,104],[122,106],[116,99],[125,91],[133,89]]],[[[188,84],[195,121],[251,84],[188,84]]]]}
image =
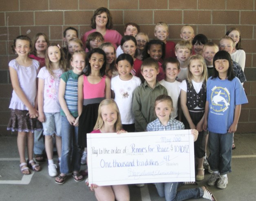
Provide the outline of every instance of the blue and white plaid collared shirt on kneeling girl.
{"type": "Polygon", "coordinates": [[[159,119],[150,122],[147,126],[147,131],[162,131],[162,130],[184,130],[185,126],[181,121],[170,118],[168,124],[164,126],[159,119]]]}

